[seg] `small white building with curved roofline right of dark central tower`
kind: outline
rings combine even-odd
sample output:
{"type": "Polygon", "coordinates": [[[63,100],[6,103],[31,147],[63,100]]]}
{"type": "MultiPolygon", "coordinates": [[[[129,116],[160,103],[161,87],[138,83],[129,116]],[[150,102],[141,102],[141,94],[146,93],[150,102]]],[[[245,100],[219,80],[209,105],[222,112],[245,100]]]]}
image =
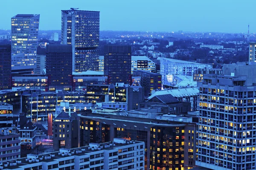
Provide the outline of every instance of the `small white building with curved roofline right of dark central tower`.
{"type": "Polygon", "coordinates": [[[155,63],[147,56],[131,56],[131,74],[134,70],[155,71],[155,63]]]}

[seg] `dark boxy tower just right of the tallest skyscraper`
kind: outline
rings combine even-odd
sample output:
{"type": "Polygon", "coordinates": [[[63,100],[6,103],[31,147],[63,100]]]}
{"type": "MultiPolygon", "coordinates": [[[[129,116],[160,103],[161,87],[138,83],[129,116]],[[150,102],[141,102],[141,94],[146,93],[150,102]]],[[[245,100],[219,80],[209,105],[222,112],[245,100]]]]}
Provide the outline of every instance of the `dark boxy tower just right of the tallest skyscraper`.
{"type": "Polygon", "coordinates": [[[104,46],[104,74],[108,83],[131,84],[131,45],[104,46]]]}

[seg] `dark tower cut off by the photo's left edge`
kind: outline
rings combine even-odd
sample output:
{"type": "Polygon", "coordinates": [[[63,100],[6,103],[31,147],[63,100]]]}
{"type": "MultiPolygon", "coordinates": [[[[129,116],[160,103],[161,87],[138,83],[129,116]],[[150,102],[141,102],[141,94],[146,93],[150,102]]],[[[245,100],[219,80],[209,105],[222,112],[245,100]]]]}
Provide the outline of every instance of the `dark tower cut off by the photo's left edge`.
{"type": "Polygon", "coordinates": [[[11,45],[0,45],[0,90],[12,89],[11,45]]]}

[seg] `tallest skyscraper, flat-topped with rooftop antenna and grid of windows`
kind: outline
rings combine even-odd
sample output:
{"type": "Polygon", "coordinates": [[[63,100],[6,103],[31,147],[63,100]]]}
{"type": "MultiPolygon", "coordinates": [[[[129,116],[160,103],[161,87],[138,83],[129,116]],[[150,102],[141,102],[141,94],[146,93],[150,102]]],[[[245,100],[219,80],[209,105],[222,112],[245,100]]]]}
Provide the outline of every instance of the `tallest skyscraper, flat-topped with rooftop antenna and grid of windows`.
{"type": "Polygon", "coordinates": [[[99,11],[61,11],[61,43],[71,44],[73,71],[99,69],[99,11]]]}

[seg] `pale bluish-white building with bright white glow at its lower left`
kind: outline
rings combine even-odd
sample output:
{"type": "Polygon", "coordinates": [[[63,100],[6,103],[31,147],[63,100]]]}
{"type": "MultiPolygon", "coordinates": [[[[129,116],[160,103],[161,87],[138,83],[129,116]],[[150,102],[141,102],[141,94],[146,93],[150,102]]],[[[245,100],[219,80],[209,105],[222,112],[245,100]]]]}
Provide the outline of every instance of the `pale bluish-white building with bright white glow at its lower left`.
{"type": "Polygon", "coordinates": [[[212,65],[161,57],[160,74],[162,75],[162,84],[175,86],[178,83],[175,80],[175,75],[193,76],[194,71],[198,68],[212,69],[212,65]]]}

